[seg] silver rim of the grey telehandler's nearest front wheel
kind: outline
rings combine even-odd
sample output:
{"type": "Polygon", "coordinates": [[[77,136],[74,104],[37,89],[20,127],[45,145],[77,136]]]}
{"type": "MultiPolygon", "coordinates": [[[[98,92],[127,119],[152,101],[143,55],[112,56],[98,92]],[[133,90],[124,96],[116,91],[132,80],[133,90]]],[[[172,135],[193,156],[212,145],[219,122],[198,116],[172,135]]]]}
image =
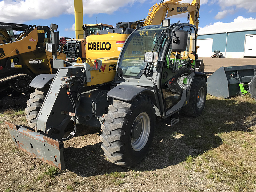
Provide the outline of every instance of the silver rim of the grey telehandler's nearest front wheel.
{"type": "Polygon", "coordinates": [[[131,145],[134,151],[140,151],[148,142],[150,133],[150,118],[147,113],[140,113],[133,125],[131,131],[131,145]]]}

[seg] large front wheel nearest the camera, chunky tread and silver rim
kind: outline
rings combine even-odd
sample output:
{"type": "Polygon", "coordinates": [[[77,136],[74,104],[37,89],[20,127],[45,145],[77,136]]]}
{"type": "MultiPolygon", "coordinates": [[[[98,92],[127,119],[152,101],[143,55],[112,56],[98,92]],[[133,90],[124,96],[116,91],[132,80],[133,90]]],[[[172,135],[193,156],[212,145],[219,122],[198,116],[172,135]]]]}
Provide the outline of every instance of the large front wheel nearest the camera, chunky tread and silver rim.
{"type": "Polygon", "coordinates": [[[101,148],[113,163],[132,167],[148,153],[156,126],[155,109],[148,97],[114,100],[101,126],[101,148]]]}

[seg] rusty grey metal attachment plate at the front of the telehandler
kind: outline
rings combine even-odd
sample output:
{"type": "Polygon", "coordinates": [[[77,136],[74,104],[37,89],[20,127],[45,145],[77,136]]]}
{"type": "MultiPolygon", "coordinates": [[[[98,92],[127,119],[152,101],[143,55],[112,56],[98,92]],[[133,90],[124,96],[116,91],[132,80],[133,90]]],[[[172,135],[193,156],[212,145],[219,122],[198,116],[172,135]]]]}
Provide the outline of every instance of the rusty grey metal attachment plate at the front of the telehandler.
{"type": "Polygon", "coordinates": [[[42,161],[65,169],[63,148],[64,144],[42,133],[37,133],[27,126],[19,126],[5,122],[17,148],[42,161]]]}

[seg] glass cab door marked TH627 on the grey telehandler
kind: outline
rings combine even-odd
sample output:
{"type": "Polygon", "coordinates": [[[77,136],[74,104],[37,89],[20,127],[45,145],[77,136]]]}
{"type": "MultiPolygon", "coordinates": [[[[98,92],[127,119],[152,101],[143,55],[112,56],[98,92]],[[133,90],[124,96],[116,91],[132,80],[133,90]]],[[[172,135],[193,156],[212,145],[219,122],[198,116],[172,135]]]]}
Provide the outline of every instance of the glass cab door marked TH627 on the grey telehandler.
{"type": "Polygon", "coordinates": [[[180,28],[180,30],[188,31],[186,51],[173,52],[171,45],[169,45],[168,51],[165,54],[161,73],[161,88],[166,116],[183,107],[186,102],[188,89],[192,84],[195,72],[194,50],[196,42],[192,36],[191,28],[193,27],[183,26],[180,28]]]}

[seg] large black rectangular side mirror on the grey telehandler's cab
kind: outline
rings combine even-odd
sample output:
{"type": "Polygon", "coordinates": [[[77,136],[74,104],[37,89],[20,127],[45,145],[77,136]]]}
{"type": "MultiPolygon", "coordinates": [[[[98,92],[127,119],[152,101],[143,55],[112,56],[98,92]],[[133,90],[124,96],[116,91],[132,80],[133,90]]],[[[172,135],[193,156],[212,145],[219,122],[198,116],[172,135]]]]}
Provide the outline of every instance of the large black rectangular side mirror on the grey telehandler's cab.
{"type": "Polygon", "coordinates": [[[187,31],[174,31],[172,38],[172,51],[181,52],[186,51],[187,41],[188,41],[188,32],[187,31]]]}

